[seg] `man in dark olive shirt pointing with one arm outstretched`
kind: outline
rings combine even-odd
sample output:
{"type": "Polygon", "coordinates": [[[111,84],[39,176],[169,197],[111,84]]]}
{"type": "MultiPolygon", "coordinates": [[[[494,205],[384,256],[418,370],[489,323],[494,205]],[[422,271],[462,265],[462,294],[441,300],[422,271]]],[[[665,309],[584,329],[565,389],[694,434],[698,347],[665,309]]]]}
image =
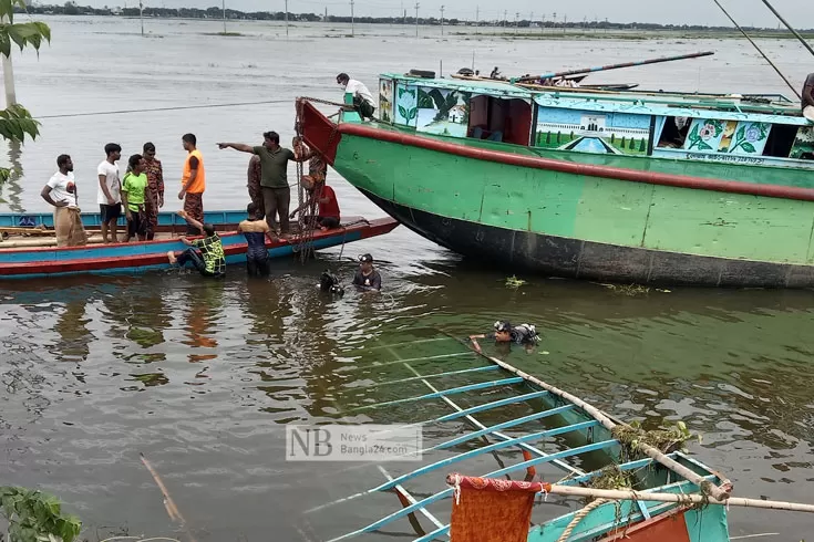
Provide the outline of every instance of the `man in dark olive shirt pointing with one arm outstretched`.
{"type": "Polygon", "coordinates": [[[277,231],[279,217],[279,234],[288,237],[288,211],[291,205],[291,189],[288,186],[288,160],[305,161],[308,156],[300,156],[298,152],[280,147],[280,136],[277,132],[262,134],[262,145],[253,147],[243,143],[218,143],[218,147],[234,148],[241,153],[251,153],[260,158],[260,189],[266,210],[268,227],[277,231]]]}

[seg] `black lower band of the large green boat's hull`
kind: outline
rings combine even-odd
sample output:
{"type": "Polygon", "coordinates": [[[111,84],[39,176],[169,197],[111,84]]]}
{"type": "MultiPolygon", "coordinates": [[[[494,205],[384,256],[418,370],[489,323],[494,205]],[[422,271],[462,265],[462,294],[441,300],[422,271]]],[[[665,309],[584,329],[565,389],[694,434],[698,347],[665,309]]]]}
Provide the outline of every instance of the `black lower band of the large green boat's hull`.
{"type": "Polygon", "coordinates": [[[812,288],[814,265],[700,257],[547,236],[455,220],[362,190],[422,237],[463,256],[511,269],[638,284],[812,288]]]}

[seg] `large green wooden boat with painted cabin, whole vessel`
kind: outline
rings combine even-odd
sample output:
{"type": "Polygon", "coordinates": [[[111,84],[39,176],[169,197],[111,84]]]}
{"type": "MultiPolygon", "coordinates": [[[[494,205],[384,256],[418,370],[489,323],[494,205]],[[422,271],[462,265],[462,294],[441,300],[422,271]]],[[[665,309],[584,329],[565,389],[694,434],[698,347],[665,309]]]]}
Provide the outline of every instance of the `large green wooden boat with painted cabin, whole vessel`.
{"type": "Polygon", "coordinates": [[[814,286],[798,104],[426,75],[381,75],[375,122],[298,102],[308,144],[421,236],[513,271],[814,286]]]}

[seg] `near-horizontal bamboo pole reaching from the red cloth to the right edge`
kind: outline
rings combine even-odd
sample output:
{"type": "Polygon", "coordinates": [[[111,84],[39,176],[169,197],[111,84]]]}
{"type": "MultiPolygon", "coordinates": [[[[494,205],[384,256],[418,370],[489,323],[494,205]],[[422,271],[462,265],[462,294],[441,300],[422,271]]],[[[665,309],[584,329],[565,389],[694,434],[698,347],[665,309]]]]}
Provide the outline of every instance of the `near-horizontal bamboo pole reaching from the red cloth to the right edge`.
{"type": "Polygon", "coordinates": [[[744,508],[762,508],[767,510],[787,510],[790,512],[807,512],[814,513],[814,504],[803,504],[800,502],[787,501],[764,501],[761,499],[745,499],[743,497],[730,497],[725,501],[715,501],[707,499],[698,493],[643,493],[632,490],[610,490],[610,489],[590,489],[578,488],[574,486],[552,486],[548,491],[552,494],[561,494],[566,497],[595,497],[597,499],[609,499],[615,501],[636,500],[636,501],[657,501],[657,502],[678,502],[680,504],[722,504],[731,507],[744,508]]]}

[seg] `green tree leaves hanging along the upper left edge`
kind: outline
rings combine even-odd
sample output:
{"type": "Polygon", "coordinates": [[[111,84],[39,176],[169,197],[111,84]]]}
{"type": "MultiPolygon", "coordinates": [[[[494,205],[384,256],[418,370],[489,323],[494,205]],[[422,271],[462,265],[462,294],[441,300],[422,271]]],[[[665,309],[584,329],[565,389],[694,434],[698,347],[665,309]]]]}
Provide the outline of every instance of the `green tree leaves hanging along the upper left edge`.
{"type": "MultiPolygon", "coordinates": [[[[20,51],[34,48],[37,54],[43,41],[51,42],[51,29],[44,22],[14,22],[14,8],[25,10],[24,0],[0,0],[0,54],[11,56],[11,43],[20,51]]],[[[0,110],[0,137],[23,143],[25,136],[32,139],[40,135],[40,123],[31,117],[25,107],[13,104],[0,110]]],[[[9,170],[0,167],[0,183],[9,178],[9,170]]]]}

